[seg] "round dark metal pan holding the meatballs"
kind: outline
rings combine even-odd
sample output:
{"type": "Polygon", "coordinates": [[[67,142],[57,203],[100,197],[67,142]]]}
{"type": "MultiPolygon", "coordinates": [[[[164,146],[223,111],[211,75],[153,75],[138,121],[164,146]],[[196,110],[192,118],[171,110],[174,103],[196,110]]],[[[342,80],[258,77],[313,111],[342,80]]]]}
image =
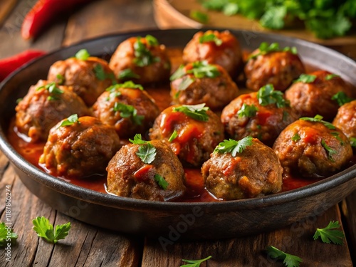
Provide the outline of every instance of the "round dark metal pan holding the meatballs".
{"type": "MultiPolygon", "coordinates": [[[[320,216],[356,189],[354,165],[321,182],[268,197],[214,203],[145,201],[94,192],[52,177],[26,162],[9,144],[6,132],[9,119],[15,114],[16,99],[26,95],[30,85],[46,79],[48,68],[55,61],[69,58],[81,48],[93,56],[110,56],[126,38],[146,34],[152,34],[166,46],[184,47],[196,31],[141,31],[95,38],[39,58],[4,80],[0,84],[0,146],[23,184],[54,209],[75,219],[129,234],[156,236],[163,244],[181,238],[221,239],[278,229],[306,216],[320,216]]],[[[296,46],[305,63],[339,74],[356,85],[356,63],[340,53],[285,36],[231,32],[239,38],[242,48],[248,50],[258,48],[262,41],[278,42],[282,47],[296,46]]]]}

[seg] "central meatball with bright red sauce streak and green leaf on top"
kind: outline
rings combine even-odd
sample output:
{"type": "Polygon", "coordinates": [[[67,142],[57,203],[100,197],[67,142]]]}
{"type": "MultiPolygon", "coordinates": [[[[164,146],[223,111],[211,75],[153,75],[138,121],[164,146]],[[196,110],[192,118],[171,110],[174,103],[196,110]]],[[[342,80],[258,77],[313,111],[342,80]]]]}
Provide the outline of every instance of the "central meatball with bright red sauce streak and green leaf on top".
{"type": "Polygon", "coordinates": [[[200,167],[224,140],[219,117],[203,107],[174,105],[163,110],[152,127],[151,140],[167,141],[184,165],[200,167]]]}

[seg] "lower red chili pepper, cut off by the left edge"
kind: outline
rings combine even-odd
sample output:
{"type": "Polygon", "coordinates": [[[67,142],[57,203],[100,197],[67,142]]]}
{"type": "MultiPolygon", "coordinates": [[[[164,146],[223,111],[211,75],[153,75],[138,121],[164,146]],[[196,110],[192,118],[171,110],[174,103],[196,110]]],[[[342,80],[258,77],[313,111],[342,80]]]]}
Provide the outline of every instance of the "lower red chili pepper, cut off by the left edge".
{"type": "Polygon", "coordinates": [[[45,55],[46,52],[39,50],[26,50],[15,56],[4,58],[0,60],[0,82],[4,80],[7,75],[12,73],[16,68],[21,67],[24,63],[31,61],[33,58],[45,55]]]}

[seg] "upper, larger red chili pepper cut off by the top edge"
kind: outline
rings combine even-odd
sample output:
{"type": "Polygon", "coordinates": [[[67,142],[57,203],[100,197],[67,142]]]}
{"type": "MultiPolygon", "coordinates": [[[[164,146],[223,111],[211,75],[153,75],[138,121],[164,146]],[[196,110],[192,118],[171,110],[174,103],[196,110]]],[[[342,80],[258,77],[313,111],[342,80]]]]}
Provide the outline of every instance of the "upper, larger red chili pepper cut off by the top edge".
{"type": "Polygon", "coordinates": [[[21,26],[21,36],[25,40],[36,38],[43,26],[53,17],[68,11],[78,4],[88,3],[88,0],[38,0],[28,12],[21,26]]]}

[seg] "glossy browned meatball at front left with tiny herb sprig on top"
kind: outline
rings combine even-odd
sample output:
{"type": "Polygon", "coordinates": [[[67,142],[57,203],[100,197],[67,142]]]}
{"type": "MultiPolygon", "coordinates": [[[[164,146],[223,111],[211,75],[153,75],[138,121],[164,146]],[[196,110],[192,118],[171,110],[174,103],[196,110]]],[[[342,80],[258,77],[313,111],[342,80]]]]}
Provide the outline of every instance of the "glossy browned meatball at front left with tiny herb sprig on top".
{"type": "Polygon", "coordinates": [[[72,115],[51,129],[39,163],[56,176],[85,178],[105,174],[118,150],[120,139],[110,125],[72,115]]]}

